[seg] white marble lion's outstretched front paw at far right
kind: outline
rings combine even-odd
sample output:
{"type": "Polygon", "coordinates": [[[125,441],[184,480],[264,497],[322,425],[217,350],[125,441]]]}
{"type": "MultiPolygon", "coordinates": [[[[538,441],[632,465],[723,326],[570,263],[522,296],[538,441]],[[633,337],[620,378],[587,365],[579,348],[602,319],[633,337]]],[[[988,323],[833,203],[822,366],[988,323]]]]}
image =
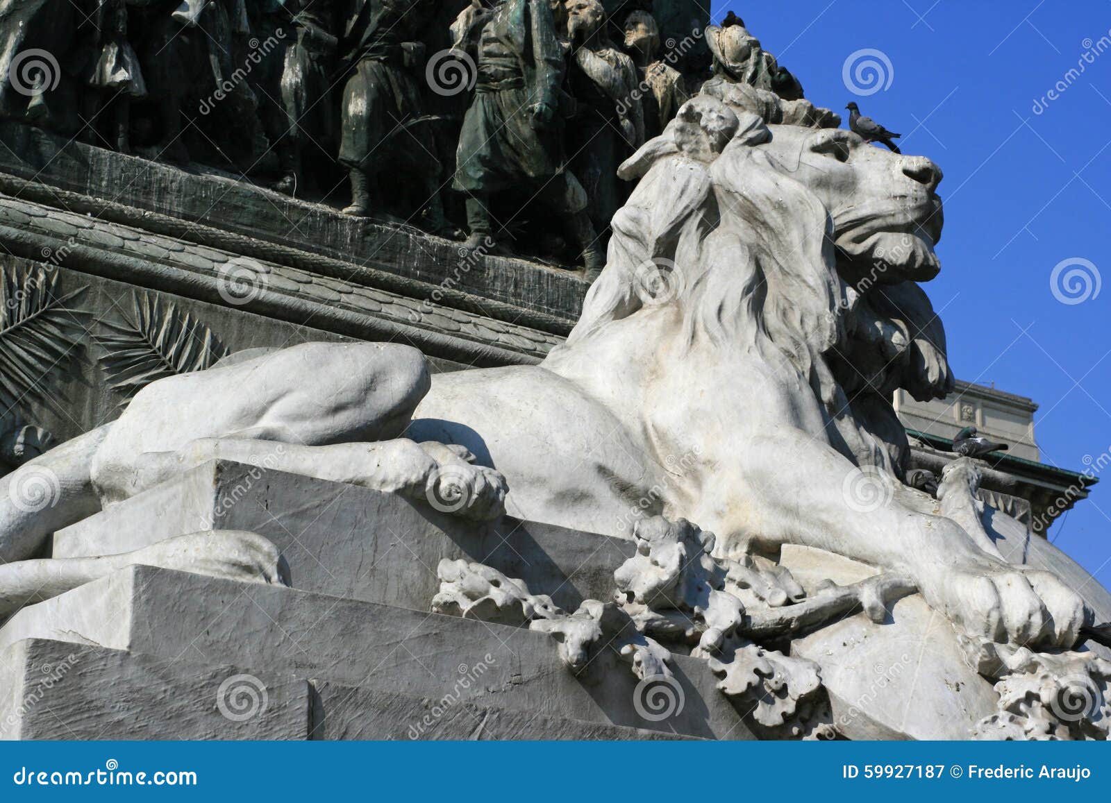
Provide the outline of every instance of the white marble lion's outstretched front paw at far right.
{"type": "Polygon", "coordinates": [[[1068,649],[1084,623],[1083,600],[1050,572],[1013,566],[950,571],[920,588],[928,602],[969,635],[994,642],[1068,649]]]}

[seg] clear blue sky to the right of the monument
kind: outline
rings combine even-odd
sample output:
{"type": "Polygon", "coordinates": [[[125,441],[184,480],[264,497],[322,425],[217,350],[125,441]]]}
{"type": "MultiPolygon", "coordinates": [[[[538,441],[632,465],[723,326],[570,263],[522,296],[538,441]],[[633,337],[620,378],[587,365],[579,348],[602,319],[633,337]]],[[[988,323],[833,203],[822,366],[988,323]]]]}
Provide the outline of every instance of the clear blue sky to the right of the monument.
{"type": "MultiPolygon", "coordinates": [[[[941,165],[943,268],[925,289],[943,310],[957,375],[1038,402],[1043,462],[1099,464],[1111,451],[1111,288],[1095,294],[1111,281],[1111,2],[712,6],[715,20],[730,10],[809,100],[834,110],[855,100],[903,133],[904,152],[941,165]],[[890,82],[867,97],[842,78],[862,49],[890,63],[890,82]],[[1065,261],[1054,294],[1051,278],[1065,261]],[[1078,277],[1070,294],[1060,280],[1073,270],[1088,280],[1078,277]]],[[[1104,473],[1050,539],[1111,586],[1111,469],[1104,473]]]]}

